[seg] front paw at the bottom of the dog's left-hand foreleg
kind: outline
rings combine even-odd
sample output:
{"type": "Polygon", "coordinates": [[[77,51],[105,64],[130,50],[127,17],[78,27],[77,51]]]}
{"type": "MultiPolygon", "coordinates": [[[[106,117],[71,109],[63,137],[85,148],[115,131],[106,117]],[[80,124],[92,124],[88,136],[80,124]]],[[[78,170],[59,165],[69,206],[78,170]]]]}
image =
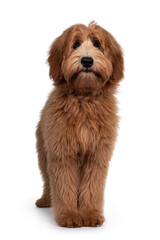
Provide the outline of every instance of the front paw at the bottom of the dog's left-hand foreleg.
{"type": "Polygon", "coordinates": [[[78,213],[68,212],[57,218],[57,223],[61,227],[75,228],[82,226],[82,220],[78,213]]]}

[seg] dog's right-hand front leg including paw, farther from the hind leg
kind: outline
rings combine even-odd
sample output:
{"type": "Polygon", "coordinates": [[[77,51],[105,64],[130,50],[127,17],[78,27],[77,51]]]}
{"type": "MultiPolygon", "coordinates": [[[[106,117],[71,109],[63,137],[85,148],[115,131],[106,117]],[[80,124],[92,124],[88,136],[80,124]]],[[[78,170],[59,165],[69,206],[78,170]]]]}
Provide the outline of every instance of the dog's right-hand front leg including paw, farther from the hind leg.
{"type": "Polygon", "coordinates": [[[84,226],[100,226],[104,222],[104,187],[108,171],[110,150],[101,148],[90,153],[81,171],[79,213],[84,226]]]}

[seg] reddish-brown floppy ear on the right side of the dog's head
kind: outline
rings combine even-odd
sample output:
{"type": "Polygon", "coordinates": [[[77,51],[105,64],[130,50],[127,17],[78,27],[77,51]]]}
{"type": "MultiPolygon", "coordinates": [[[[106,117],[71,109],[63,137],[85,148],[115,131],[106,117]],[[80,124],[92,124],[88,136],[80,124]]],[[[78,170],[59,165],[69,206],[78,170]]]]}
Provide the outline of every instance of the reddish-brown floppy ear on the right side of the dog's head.
{"type": "Polygon", "coordinates": [[[111,83],[118,83],[124,77],[123,52],[118,42],[109,32],[103,29],[103,34],[105,36],[106,49],[109,49],[113,67],[109,81],[111,83]]]}

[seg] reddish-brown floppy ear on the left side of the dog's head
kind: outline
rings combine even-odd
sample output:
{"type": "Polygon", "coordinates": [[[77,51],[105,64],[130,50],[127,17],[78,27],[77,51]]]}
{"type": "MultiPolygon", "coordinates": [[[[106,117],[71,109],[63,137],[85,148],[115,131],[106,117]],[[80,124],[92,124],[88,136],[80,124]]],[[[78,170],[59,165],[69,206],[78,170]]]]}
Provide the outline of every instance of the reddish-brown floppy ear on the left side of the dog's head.
{"type": "Polygon", "coordinates": [[[65,52],[65,48],[67,46],[68,37],[72,31],[73,27],[68,28],[65,30],[61,36],[55,39],[52,43],[49,56],[48,56],[48,63],[49,63],[49,76],[55,82],[60,82],[63,80],[63,74],[61,70],[61,64],[63,61],[63,55],[65,52]]]}

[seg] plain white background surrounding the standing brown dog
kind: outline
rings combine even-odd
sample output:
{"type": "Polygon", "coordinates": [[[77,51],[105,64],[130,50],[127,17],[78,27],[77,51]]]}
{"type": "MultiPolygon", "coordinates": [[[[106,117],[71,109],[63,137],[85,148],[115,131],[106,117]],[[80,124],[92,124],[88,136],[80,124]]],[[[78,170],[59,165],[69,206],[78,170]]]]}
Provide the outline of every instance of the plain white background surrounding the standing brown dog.
{"type": "Polygon", "coordinates": [[[143,0],[0,1],[1,239],[160,239],[160,6],[143,0]],[[45,63],[54,38],[95,20],[125,54],[117,95],[119,137],[98,228],[56,225],[38,209],[42,181],[35,128],[52,82],[45,63]]]}

